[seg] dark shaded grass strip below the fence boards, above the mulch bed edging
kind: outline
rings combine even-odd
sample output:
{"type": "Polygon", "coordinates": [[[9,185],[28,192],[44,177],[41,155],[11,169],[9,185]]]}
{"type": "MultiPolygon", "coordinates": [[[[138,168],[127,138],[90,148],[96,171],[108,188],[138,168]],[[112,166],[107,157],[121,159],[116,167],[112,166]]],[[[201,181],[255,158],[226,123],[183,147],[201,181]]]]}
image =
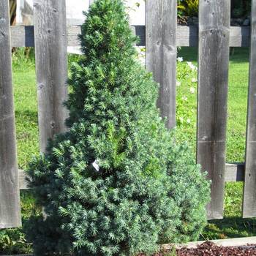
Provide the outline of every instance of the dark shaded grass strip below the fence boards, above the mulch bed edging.
{"type": "Polygon", "coordinates": [[[242,238],[248,236],[256,236],[256,218],[242,219],[240,217],[228,217],[209,221],[200,240],[242,238]]]}

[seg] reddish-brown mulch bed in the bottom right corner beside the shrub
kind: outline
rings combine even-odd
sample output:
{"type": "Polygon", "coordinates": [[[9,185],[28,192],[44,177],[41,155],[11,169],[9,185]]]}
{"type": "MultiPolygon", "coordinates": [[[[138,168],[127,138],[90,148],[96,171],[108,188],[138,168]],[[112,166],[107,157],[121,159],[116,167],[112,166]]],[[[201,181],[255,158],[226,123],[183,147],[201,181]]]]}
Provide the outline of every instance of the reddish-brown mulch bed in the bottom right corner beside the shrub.
{"type": "MultiPolygon", "coordinates": [[[[174,249],[174,252],[161,252],[154,256],[256,256],[256,245],[245,245],[238,247],[222,247],[207,241],[197,248],[174,249]]],[[[144,256],[144,255],[139,255],[144,256]]]]}

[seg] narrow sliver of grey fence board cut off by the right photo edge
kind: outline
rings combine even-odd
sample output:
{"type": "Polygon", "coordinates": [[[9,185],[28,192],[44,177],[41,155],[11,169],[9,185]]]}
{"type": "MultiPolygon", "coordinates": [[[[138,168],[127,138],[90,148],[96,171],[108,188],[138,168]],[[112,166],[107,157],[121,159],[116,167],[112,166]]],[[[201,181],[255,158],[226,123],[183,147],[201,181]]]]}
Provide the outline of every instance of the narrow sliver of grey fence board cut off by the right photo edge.
{"type": "Polygon", "coordinates": [[[256,217],[256,0],[252,0],[243,217],[256,217]]]}

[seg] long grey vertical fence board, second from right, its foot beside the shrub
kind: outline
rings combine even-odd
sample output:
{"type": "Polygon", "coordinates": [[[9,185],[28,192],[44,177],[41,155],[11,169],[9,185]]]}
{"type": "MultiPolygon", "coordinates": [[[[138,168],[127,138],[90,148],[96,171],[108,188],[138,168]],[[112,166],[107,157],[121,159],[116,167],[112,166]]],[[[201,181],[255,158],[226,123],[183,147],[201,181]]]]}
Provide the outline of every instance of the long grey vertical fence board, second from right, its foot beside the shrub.
{"type": "Polygon", "coordinates": [[[211,179],[208,219],[222,219],[229,65],[230,1],[200,0],[197,162],[211,179]]]}

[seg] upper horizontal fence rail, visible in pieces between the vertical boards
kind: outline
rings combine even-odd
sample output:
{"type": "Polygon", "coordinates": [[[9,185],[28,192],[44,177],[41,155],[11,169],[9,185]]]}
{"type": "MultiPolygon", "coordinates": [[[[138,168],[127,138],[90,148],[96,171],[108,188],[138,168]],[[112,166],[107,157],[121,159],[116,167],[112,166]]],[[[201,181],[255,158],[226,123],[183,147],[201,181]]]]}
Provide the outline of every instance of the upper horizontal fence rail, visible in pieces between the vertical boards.
{"type": "MultiPolygon", "coordinates": [[[[146,26],[136,26],[135,31],[140,38],[138,46],[146,45],[146,26]]],[[[80,46],[78,34],[80,26],[67,27],[67,45],[80,46]]],[[[12,47],[34,47],[34,26],[12,26],[12,47]]],[[[196,47],[198,44],[197,26],[177,26],[177,46],[196,47]]],[[[250,28],[244,26],[230,27],[230,47],[249,47],[250,28]]]]}

